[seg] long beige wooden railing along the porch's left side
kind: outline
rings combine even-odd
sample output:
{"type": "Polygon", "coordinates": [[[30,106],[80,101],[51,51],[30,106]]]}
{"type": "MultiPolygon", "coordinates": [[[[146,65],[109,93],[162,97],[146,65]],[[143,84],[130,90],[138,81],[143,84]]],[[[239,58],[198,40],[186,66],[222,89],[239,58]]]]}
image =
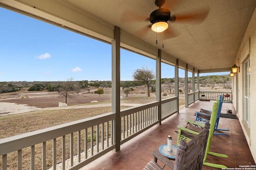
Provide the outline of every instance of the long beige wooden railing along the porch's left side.
{"type": "MultiPolygon", "coordinates": [[[[121,129],[120,132],[116,132],[121,134],[120,144],[157,124],[159,106],[160,102],[152,102],[122,109],[120,111],[121,129]]],[[[162,100],[161,110],[162,119],[178,112],[178,98],[162,100]]],[[[105,113],[0,139],[2,170],[10,168],[56,170],[58,166],[63,170],[82,168],[116,148],[113,140],[114,121],[115,113],[105,113]],[[16,163],[10,165],[12,162],[16,163]]]]}

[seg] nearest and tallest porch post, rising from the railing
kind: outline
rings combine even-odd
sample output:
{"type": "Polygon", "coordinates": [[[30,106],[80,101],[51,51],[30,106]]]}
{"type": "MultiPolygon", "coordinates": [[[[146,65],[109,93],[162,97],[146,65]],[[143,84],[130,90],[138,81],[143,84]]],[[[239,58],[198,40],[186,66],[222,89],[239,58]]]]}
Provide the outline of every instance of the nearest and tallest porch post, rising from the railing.
{"type": "Polygon", "coordinates": [[[114,120],[113,142],[115,151],[120,150],[121,123],[120,123],[120,28],[115,26],[115,39],[112,41],[112,112],[116,113],[114,120]]]}

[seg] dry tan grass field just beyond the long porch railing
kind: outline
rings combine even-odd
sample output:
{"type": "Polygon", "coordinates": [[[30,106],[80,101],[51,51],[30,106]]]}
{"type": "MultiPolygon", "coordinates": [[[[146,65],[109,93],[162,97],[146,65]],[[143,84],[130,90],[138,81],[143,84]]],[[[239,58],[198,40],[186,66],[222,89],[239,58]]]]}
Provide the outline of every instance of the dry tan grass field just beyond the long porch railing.
{"type": "MultiPolygon", "coordinates": [[[[155,101],[154,97],[130,97],[123,98],[121,100],[122,103],[136,103],[136,104],[145,104],[148,102],[155,101]]],[[[106,104],[110,103],[110,100],[101,101],[97,104],[106,104]]],[[[90,103],[91,104],[91,103],[90,103]]],[[[180,98],[180,105],[184,104],[184,99],[180,98]]],[[[86,104],[85,104],[86,105],[86,104]]],[[[127,107],[121,107],[124,109],[127,107]]],[[[36,131],[39,129],[44,129],[47,127],[52,127],[80,119],[85,119],[88,117],[108,113],[111,111],[111,107],[94,107],[94,108],[82,108],[82,109],[62,109],[62,110],[47,110],[47,111],[31,111],[28,113],[20,113],[15,115],[7,115],[0,117],[0,139],[4,139],[6,137],[12,137],[15,135],[20,135],[23,133],[36,131]]],[[[81,132],[83,134],[83,132],[81,132]]],[[[83,139],[83,136],[81,136],[83,139]]],[[[61,138],[57,140],[57,148],[61,148],[61,138]]],[[[77,134],[74,133],[74,142],[77,140],[77,134]]],[[[66,136],[66,146],[69,146],[70,136],[66,136]]],[[[81,142],[81,148],[84,148],[84,142],[81,142]]],[[[36,169],[40,169],[42,165],[42,161],[40,156],[42,155],[42,144],[38,144],[35,146],[36,152],[36,169]]],[[[47,141],[46,143],[46,161],[47,167],[50,168],[52,166],[52,141],[47,141]]],[[[61,150],[57,150],[57,152],[61,153],[61,150]]],[[[66,158],[69,158],[69,149],[66,149],[66,158]]],[[[74,145],[74,154],[77,154],[77,147],[74,145]]],[[[2,156],[0,156],[1,159],[2,156]]],[[[30,148],[22,150],[22,168],[27,169],[30,167],[30,148]]],[[[16,169],[17,167],[17,153],[13,152],[8,154],[8,169],[16,169]]],[[[61,154],[57,155],[57,162],[61,162],[61,154]]],[[[2,166],[2,162],[0,162],[0,166],[2,166]]]]}

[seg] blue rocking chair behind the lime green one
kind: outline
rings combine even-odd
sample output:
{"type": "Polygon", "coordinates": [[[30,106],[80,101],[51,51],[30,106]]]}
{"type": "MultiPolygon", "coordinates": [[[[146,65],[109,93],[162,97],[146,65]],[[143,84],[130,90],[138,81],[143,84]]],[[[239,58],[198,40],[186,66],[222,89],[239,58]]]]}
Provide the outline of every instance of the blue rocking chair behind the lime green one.
{"type": "MultiPolygon", "coordinates": [[[[219,124],[219,121],[220,121],[220,112],[221,112],[221,109],[222,109],[223,100],[224,100],[224,94],[222,94],[219,97],[218,110],[217,110],[217,116],[216,116],[214,131],[215,130],[229,131],[228,129],[218,129],[218,124],[219,124]]],[[[210,121],[211,113],[212,113],[212,111],[206,110],[206,109],[201,109],[200,111],[196,111],[196,120],[194,122],[199,123],[200,125],[202,125],[202,127],[204,127],[204,123],[210,121]]],[[[187,121],[187,122],[192,123],[191,121],[187,121]]],[[[213,134],[214,135],[227,135],[226,133],[213,133],[213,134]]]]}

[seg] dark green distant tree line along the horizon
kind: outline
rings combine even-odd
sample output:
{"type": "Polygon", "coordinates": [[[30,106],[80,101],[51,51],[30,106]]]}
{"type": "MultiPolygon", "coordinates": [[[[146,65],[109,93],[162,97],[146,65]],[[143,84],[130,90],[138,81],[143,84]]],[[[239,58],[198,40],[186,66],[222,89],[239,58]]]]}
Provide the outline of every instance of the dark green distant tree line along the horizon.
{"type": "MultiPolygon", "coordinates": [[[[77,94],[81,89],[87,89],[90,92],[89,87],[96,88],[111,88],[111,81],[72,81],[74,86],[71,87],[70,90],[76,92],[77,94]]],[[[64,82],[0,82],[0,93],[8,93],[8,92],[18,92],[24,87],[29,87],[28,91],[42,91],[47,90],[49,92],[60,92],[63,87],[64,82]]],[[[156,80],[151,80],[149,86],[151,88],[151,92],[155,92],[156,90],[156,80]]],[[[162,78],[162,84],[166,84],[168,90],[174,89],[174,78],[162,78]]],[[[195,83],[197,83],[197,78],[195,77],[195,83]]],[[[226,75],[211,75],[211,76],[200,76],[199,83],[201,86],[210,86],[214,88],[216,84],[222,83],[224,84],[224,88],[232,88],[232,79],[229,74],[226,75]]],[[[121,81],[120,87],[124,90],[125,94],[129,94],[130,90],[133,90],[136,86],[144,86],[145,82],[140,80],[131,80],[131,81],[121,81]]],[[[147,85],[146,85],[147,86],[147,85]]],[[[185,86],[185,78],[179,78],[179,88],[185,86]]],[[[188,88],[192,89],[192,77],[188,78],[188,88]],[[191,87],[190,87],[191,86],[191,87]]]]}

